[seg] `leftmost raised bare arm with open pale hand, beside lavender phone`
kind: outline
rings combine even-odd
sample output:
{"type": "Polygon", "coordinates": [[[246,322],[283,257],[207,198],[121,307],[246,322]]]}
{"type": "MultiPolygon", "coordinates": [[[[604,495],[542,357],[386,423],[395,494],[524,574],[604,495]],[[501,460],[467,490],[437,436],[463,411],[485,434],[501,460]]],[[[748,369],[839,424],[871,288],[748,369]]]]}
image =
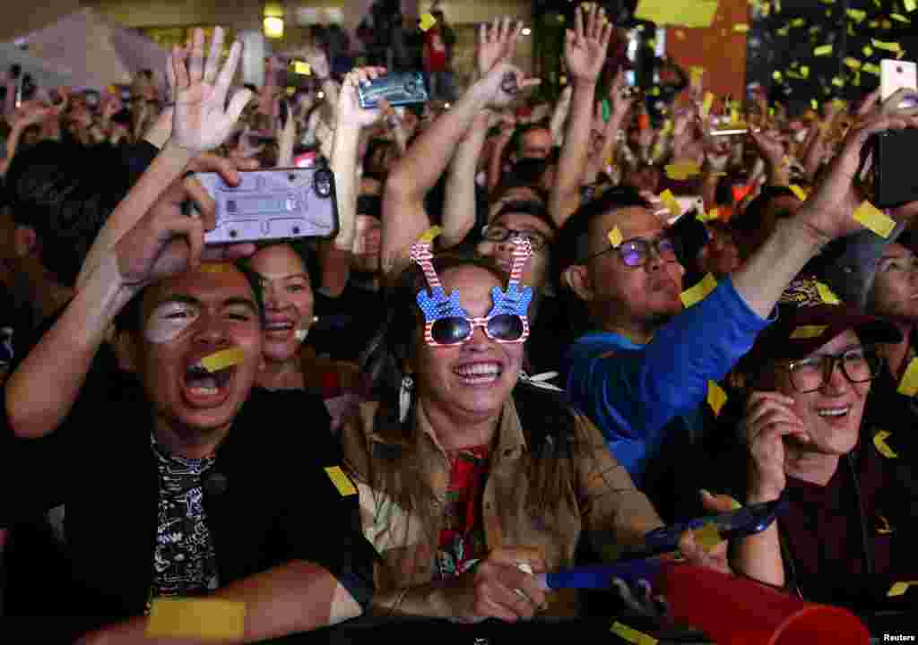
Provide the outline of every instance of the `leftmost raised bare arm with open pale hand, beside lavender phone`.
{"type": "Polygon", "coordinates": [[[129,194],[106,219],[89,250],[77,278],[80,288],[86,276],[111,252],[124,234],[150,209],[156,198],[185,172],[188,163],[205,150],[214,150],[229,137],[252,93],[241,90],[226,102],[229,83],[239,65],[242,46],[234,42],[229,59],[218,68],[223,49],[223,29],[217,28],[207,64],[204,32],[195,30],[193,50],[174,48],[167,64],[170,85],[175,88],[173,127],[165,146],[129,194]],[[190,54],[190,55],[189,55],[190,54]],[[187,66],[186,66],[187,61],[187,66]]]}

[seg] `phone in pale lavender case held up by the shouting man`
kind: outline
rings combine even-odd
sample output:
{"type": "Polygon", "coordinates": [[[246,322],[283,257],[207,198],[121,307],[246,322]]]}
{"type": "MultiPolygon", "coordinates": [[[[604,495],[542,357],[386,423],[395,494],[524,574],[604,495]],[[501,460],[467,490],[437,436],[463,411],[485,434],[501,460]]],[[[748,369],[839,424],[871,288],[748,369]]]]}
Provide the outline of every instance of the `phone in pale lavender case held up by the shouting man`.
{"type": "Polygon", "coordinates": [[[333,238],[338,234],[334,175],[327,168],[240,172],[237,186],[216,172],[195,177],[217,203],[206,244],[270,239],[333,238]]]}

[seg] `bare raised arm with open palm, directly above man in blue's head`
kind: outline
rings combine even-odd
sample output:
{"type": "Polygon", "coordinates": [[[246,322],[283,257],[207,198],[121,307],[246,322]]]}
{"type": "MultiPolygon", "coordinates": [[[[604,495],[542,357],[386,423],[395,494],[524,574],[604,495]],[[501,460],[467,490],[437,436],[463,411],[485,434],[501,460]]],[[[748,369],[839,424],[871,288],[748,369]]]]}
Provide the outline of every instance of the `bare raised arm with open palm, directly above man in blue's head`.
{"type": "Polygon", "coordinates": [[[580,204],[589,155],[589,137],[593,121],[596,81],[606,61],[613,26],[605,9],[589,3],[577,6],[575,28],[565,31],[565,61],[573,79],[574,95],[567,117],[565,145],[561,149],[549,212],[560,228],[580,204]]]}

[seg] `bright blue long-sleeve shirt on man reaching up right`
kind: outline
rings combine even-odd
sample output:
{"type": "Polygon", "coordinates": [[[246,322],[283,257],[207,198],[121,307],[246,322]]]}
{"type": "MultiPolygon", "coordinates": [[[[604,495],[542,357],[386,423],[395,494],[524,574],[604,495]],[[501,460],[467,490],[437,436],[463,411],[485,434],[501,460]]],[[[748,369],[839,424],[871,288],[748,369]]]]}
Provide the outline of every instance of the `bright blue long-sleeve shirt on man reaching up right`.
{"type": "Polygon", "coordinates": [[[641,485],[667,424],[681,416],[694,425],[708,381],[720,381],[773,320],[757,316],[728,277],[646,345],[612,332],[577,339],[565,356],[568,395],[641,485]]]}

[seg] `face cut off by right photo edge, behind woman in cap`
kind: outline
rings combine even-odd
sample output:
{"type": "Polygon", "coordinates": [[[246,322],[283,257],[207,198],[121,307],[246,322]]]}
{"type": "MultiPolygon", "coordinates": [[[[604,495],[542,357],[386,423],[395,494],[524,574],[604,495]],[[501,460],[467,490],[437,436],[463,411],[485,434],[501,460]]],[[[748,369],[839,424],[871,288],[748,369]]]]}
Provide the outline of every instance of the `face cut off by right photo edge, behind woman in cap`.
{"type": "Polygon", "coordinates": [[[883,251],[873,283],[873,310],[904,323],[918,322],[918,258],[901,244],[883,251]]]}

